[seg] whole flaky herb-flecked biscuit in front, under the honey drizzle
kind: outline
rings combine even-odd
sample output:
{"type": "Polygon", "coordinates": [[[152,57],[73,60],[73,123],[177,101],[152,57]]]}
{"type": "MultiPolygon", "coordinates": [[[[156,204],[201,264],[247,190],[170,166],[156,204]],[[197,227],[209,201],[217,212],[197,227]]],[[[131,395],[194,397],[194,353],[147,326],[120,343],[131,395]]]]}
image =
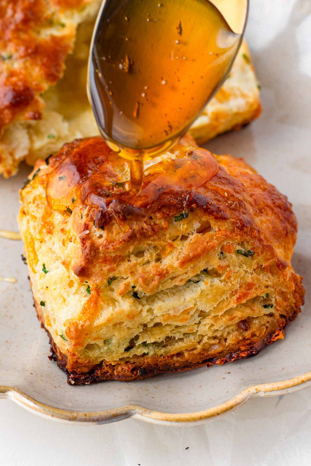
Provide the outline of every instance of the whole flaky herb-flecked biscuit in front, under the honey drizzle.
{"type": "Polygon", "coordinates": [[[304,297],[287,198],[190,137],[134,199],[124,163],[100,137],[74,141],[21,191],[35,306],[69,383],[221,364],[283,338],[304,297]]]}

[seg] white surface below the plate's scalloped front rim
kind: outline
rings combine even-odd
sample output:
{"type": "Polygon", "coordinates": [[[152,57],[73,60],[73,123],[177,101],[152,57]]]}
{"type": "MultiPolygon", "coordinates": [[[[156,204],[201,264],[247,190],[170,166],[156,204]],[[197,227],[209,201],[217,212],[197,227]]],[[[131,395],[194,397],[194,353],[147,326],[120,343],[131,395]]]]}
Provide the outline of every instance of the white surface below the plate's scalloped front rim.
{"type": "Polygon", "coordinates": [[[205,425],[75,426],[0,401],[3,466],[310,466],[311,389],[255,398],[205,425]],[[189,447],[187,450],[187,446],[189,447]]]}

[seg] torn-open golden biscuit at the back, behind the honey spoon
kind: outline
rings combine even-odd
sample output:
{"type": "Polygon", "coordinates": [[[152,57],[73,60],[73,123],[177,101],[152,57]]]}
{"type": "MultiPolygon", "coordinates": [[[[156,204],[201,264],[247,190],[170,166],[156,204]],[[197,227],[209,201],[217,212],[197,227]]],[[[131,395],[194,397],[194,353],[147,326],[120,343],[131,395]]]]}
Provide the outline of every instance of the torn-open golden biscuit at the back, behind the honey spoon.
{"type": "MultiPolygon", "coordinates": [[[[100,4],[101,0],[2,1],[0,174],[5,177],[14,175],[23,159],[34,165],[74,138],[98,134],[86,75],[100,4]]],[[[206,142],[249,123],[260,108],[255,71],[243,43],[228,80],[194,123],[192,134],[206,142]]]]}

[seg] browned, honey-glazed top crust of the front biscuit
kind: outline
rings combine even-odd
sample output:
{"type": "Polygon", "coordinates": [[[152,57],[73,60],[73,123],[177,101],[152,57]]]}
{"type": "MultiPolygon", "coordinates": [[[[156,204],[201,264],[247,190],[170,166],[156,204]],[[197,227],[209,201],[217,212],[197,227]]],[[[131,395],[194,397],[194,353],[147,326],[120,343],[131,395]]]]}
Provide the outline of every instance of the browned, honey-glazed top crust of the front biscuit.
{"type": "MultiPolygon", "coordinates": [[[[90,207],[91,220],[95,220],[97,228],[108,226],[116,216],[127,224],[135,222],[139,228],[142,219],[144,224],[152,225],[148,221],[150,213],[156,213],[157,218],[167,218],[180,210],[200,208],[216,220],[230,221],[233,232],[254,229],[259,234],[261,229],[269,242],[278,242],[284,236],[296,233],[297,221],[287,197],[242,158],[213,157],[214,163],[218,162],[217,170],[211,178],[203,180],[200,157],[202,153],[210,153],[198,148],[188,137],[189,142],[191,145],[181,159],[166,159],[153,165],[153,170],[145,171],[142,190],[133,199],[124,196],[122,177],[118,174],[118,171],[124,171],[124,160],[118,158],[101,137],[65,144],[55,157],[49,159],[48,171],[57,168],[57,175],[63,178],[57,180],[57,195],[62,192],[66,175],[71,177],[64,187],[67,197],[75,193],[75,189],[83,190],[77,200],[90,207]],[[188,165],[181,175],[176,173],[180,170],[178,162],[183,162],[193,151],[194,159],[199,158],[193,167],[194,173],[189,171],[188,165]],[[173,170],[171,162],[175,162],[173,170]],[[98,176],[93,178],[94,174],[98,176]],[[270,228],[272,218],[275,222],[273,229],[270,228]]],[[[177,150],[182,149],[180,145],[177,150]]]]}

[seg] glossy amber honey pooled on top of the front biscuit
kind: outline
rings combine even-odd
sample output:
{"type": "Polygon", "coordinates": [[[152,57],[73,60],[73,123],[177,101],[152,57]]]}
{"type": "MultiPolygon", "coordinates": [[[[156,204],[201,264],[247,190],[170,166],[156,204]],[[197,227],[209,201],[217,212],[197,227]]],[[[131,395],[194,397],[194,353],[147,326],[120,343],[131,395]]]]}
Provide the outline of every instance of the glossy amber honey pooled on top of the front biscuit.
{"type": "Polygon", "coordinates": [[[175,158],[167,158],[144,171],[142,189],[132,197],[129,182],[124,181],[124,160],[100,137],[83,140],[58,163],[52,162],[46,187],[48,205],[68,212],[79,204],[105,210],[117,199],[144,207],[169,192],[187,189],[195,193],[217,174],[218,163],[205,149],[181,145],[178,149],[172,156],[175,158]]]}

